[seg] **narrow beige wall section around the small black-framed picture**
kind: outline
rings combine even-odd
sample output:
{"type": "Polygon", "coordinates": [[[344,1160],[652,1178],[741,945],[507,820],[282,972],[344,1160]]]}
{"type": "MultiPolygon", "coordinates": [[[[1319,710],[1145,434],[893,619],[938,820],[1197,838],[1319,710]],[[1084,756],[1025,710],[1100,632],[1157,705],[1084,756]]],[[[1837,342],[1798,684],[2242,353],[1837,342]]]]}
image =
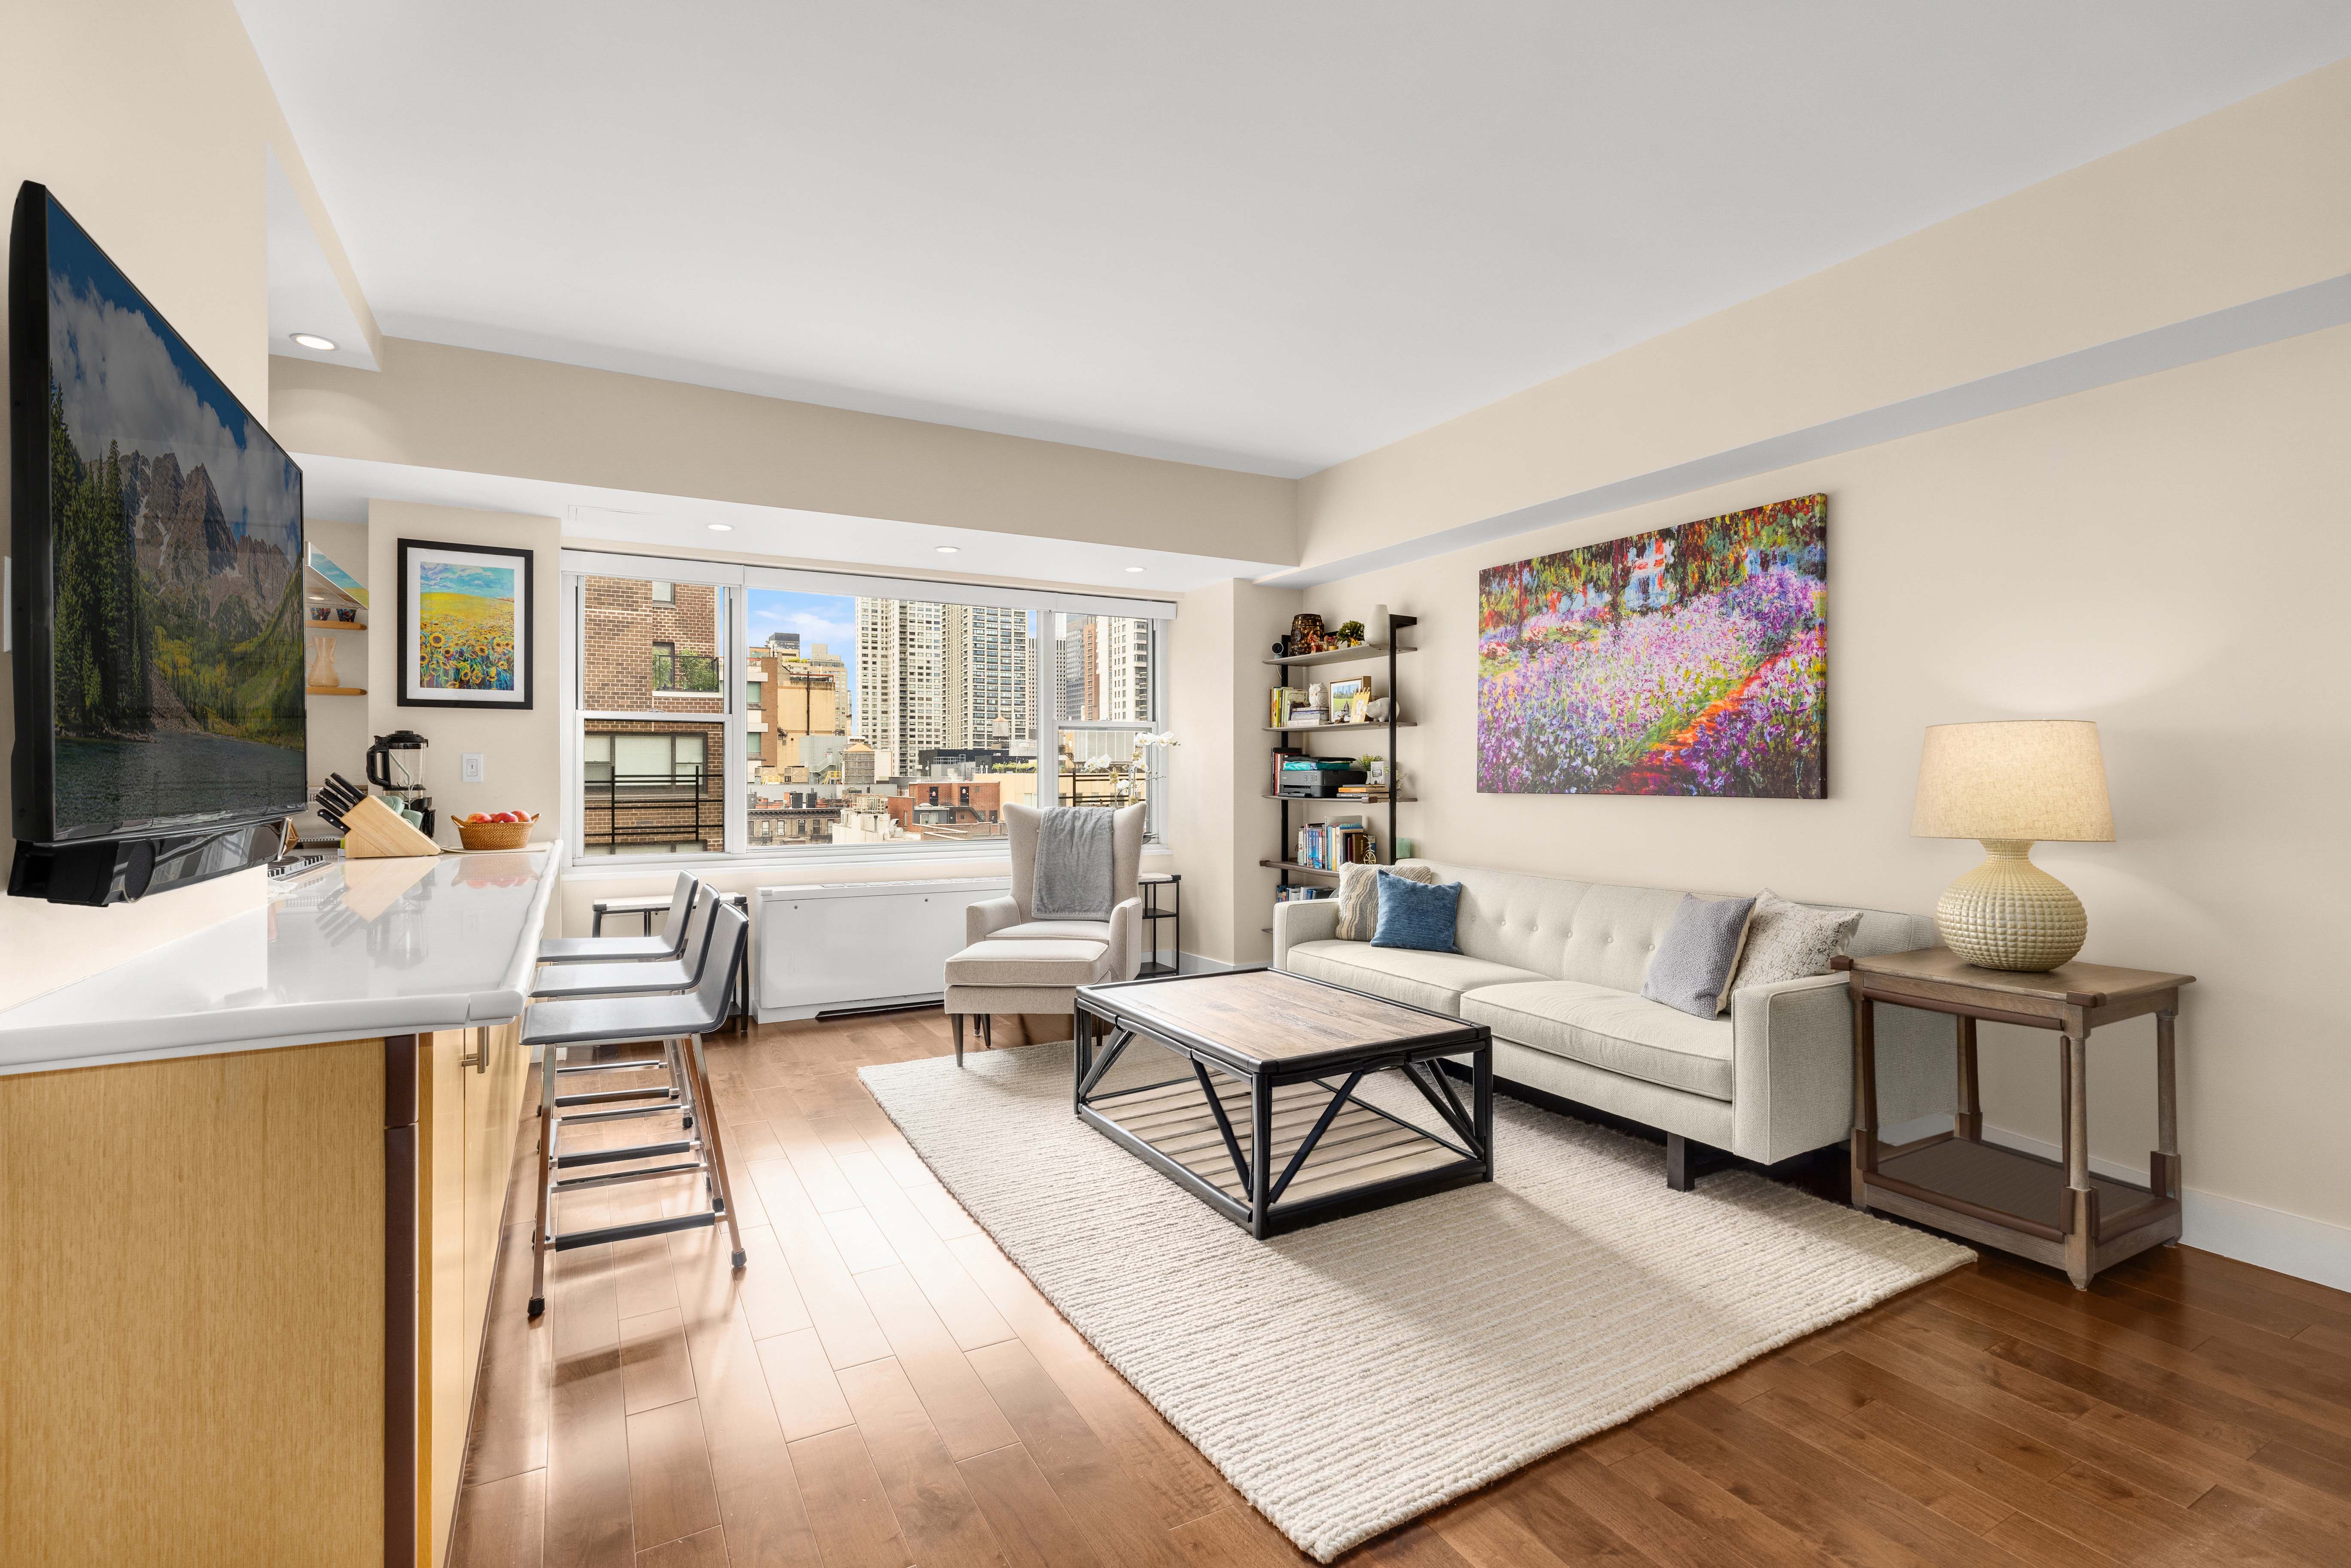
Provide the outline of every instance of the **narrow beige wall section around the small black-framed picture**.
{"type": "MultiPolygon", "coordinates": [[[[383,736],[414,729],[433,743],[433,804],[440,811],[440,842],[456,849],[449,823],[465,811],[536,811],[531,842],[571,837],[562,790],[562,649],[564,595],[560,559],[562,524],[555,517],[520,517],[515,512],[473,512],[454,505],[416,505],[409,501],[367,503],[367,595],[369,621],[381,630],[367,635],[367,729],[383,736]],[[426,538],[449,545],[501,545],[531,552],[531,658],[538,675],[531,684],[531,708],[501,712],[494,708],[402,708],[400,691],[400,541],[426,538]],[[458,778],[463,752],[482,752],[482,783],[458,778]]],[[[357,773],[350,773],[357,778],[357,773]]]]}

